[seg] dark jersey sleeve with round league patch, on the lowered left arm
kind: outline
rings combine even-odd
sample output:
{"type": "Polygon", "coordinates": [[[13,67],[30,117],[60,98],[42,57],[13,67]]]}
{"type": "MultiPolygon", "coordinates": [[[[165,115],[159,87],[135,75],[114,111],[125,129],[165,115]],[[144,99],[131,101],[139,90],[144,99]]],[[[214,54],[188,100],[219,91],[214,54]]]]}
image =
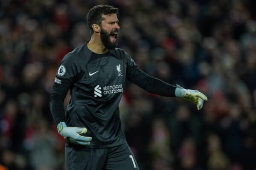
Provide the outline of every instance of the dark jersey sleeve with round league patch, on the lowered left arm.
{"type": "Polygon", "coordinates": [[[77,75],[77,65],[73,57],[67,54],[58,67],[52,92],[50,95],[50,110],[56,125],[65,121],[64,99],[67,91],[72,87],[77,75]]]}

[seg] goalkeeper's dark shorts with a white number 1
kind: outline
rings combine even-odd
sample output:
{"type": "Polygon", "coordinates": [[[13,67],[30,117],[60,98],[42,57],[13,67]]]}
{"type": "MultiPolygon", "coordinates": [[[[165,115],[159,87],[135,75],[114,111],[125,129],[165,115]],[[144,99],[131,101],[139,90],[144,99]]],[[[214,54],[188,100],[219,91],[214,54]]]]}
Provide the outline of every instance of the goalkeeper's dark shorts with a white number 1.
{"type": "Polygon", "coordinates": [[[139,170],[128,144],[100,149],[65,147],[65,162],[67,170],[139,170]]]}

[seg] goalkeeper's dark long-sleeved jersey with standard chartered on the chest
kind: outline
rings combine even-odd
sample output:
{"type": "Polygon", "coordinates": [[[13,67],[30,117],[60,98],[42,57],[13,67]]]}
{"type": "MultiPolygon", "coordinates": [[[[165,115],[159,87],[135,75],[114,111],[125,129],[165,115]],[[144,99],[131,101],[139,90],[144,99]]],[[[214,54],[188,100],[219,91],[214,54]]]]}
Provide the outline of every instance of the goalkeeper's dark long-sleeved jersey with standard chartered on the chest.
{"type": "Polygon", "coordinates": [[[95,54],[87,43],[68,53],[59,65],[50,96],[50,109],[56,125],[86,127],[91,136],[89,148],[125,144],[119,118],[119,102],[125,79],[146,91],[175,96],[175,86],[145,74],[122,49],[95,54]],[[71,100],[64,114],[63,101],[70,89],[71,100]]]}

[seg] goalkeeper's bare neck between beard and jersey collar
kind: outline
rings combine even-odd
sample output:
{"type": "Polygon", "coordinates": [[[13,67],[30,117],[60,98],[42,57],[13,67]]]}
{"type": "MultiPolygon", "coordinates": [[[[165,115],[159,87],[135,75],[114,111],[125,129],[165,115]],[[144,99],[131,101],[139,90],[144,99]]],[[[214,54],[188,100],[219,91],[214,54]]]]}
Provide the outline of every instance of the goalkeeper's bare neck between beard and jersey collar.
{"type": "Polygon", "coordinates": [[[96,35],[96,33],[92,35],[90,41],[87,43],[87,47],[96,54],[103,54],[108,51],[108,48],[103,45],[99,35],[96,35]]]}

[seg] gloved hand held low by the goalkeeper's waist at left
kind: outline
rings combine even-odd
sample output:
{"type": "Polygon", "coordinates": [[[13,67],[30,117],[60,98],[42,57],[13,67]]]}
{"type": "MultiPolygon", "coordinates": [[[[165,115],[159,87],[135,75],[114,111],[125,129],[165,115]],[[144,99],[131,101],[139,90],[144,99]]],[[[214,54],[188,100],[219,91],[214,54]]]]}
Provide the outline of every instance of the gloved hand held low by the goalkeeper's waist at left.
{"type": "Polygon", "coordinates": [[[79,134],[87,133],[85,127],[67,127],[65,122],[60,122],[57,126],[58,133],[74,144],[88,145],[92,140],[92,137],[81,136],[79,134]]]}

